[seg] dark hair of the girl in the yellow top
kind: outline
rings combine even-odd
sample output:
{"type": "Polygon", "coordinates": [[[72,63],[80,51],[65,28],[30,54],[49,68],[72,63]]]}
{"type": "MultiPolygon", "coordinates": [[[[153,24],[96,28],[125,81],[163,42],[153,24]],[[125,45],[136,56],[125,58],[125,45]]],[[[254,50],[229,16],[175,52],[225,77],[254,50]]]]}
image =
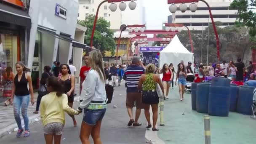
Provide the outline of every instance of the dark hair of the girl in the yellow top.
{"type": "Polygon", "coordinates": [[[49,77],[47,79],[47,87],[51,87],[53,91],[56,92],[57,96],[62,96],[62,94],[64,93],[63,84],[61,83],[61,81],[59,81],[57,77],[49,77]]]}

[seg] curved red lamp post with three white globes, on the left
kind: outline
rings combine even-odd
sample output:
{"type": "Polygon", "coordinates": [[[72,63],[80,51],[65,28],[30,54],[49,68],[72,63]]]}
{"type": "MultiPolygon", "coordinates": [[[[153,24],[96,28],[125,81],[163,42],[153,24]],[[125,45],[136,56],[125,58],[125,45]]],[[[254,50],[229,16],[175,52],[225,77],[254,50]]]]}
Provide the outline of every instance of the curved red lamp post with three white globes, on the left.
{"type": "Polygon", "coordinates": [[[96,28],[96,23],[97,23],[97,19],[98,19],[98,14],[99,14],[99,8],[100,8],[100,6],[101,6],[103,3],[106,3],[106,2],[111,3],[111,5],[109,6],[109,9],[110,9],[110,11],[113,11],[113,12],[114,12],[114,11],[117,10],[117,5],[116,5],[115,3],[122,2],[122,3],[120,3],[119,8],[120,8],[121,11],[124,11],[125,8],[126,8],[126,4],[123,3],[123,2],[128,2],[128,1],[131,1],[131,2],[129,3],[129,8],[130,8],[131,10],[134,10],[134,9],[136,8],[136,3],[133,2],[133,1],[135,1],[135,0],[104,0],[104,1],[102,1],[102,2],[99,4],[99,6],[98,6],[98,8],[97,8],[97,11],[96,11],[96,16],[95,16],[95,19],[94,19],[93,29],[92,29],[92,33],[91,33],[91,47],[93,46],[93,36],[94,36],[95,28],[96,28]]]}

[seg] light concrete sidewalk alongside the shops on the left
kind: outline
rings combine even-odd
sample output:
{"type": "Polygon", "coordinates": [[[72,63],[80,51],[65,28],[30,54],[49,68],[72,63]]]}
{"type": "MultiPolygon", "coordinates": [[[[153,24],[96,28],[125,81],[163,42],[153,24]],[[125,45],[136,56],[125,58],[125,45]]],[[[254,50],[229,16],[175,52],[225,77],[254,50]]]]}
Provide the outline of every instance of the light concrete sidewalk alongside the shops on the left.
{"type": "MultiPolygon", "coordinates": [[[[75,84],[75,93],[77,93],[77,99],[79,98],[79,84],[75,84]]],[[[29,123],[37,122],[40,119],[39,114],[33,114],[36,108],[38,93],[34,93],[35,104],[32,106],[29,102],[27,109],[27,115],[29,117],[29,123]]],[[[20,114],[21,115],[21,114],[20,114]]],[[[21,116],[21,123],[24,124],[23,117],[21,116]]],[[[13,115],[13,106],[5,107],[4,103],[0,103],[0,138],[9,132],[13,132],[14,128],[17,128],[16,121],[13,115]]]]}

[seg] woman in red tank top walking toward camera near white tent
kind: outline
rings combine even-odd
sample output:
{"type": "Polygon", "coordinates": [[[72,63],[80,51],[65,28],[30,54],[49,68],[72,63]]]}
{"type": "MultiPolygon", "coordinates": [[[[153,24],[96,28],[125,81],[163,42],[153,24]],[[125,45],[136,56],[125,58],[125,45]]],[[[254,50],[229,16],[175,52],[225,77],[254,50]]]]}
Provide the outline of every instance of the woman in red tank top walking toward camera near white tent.
{"type": "Polygon", "coordinates": [[[173,79],[173,72],[171,69],[169,69],[168,64],[164,64],[162,69],[161,68],[158,69],[157,73],[158,74],[163,73],[162,83],[164,88],[164,95],[166,99],[169,99],[168,93],[169,93],[171,81],[173,79]]]}

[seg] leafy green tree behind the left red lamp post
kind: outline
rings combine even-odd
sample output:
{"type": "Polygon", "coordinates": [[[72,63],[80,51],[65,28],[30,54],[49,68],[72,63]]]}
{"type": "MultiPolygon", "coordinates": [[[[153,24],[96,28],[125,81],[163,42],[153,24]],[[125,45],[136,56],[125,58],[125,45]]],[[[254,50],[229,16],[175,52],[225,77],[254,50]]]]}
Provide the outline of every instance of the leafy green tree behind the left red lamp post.
{"type": "MultiPolygon", "coordinates": [[[[84,43],[90,45],[91,33],[93,29],[93,23],[95,20],[95,15],[89,15],[85,20],[78,21],[84,27],[87,27],[85,32],[84,43]]],[[[110,29],[110,22],[106,21],[104,18],[99,17],[96,24],[96,29],[93,37],[93,46],[101,51],[103,56],[105,51],[111,51],[111,54],[115,54],[115,40],[113,39],[114,31],[110,29]]]]}

